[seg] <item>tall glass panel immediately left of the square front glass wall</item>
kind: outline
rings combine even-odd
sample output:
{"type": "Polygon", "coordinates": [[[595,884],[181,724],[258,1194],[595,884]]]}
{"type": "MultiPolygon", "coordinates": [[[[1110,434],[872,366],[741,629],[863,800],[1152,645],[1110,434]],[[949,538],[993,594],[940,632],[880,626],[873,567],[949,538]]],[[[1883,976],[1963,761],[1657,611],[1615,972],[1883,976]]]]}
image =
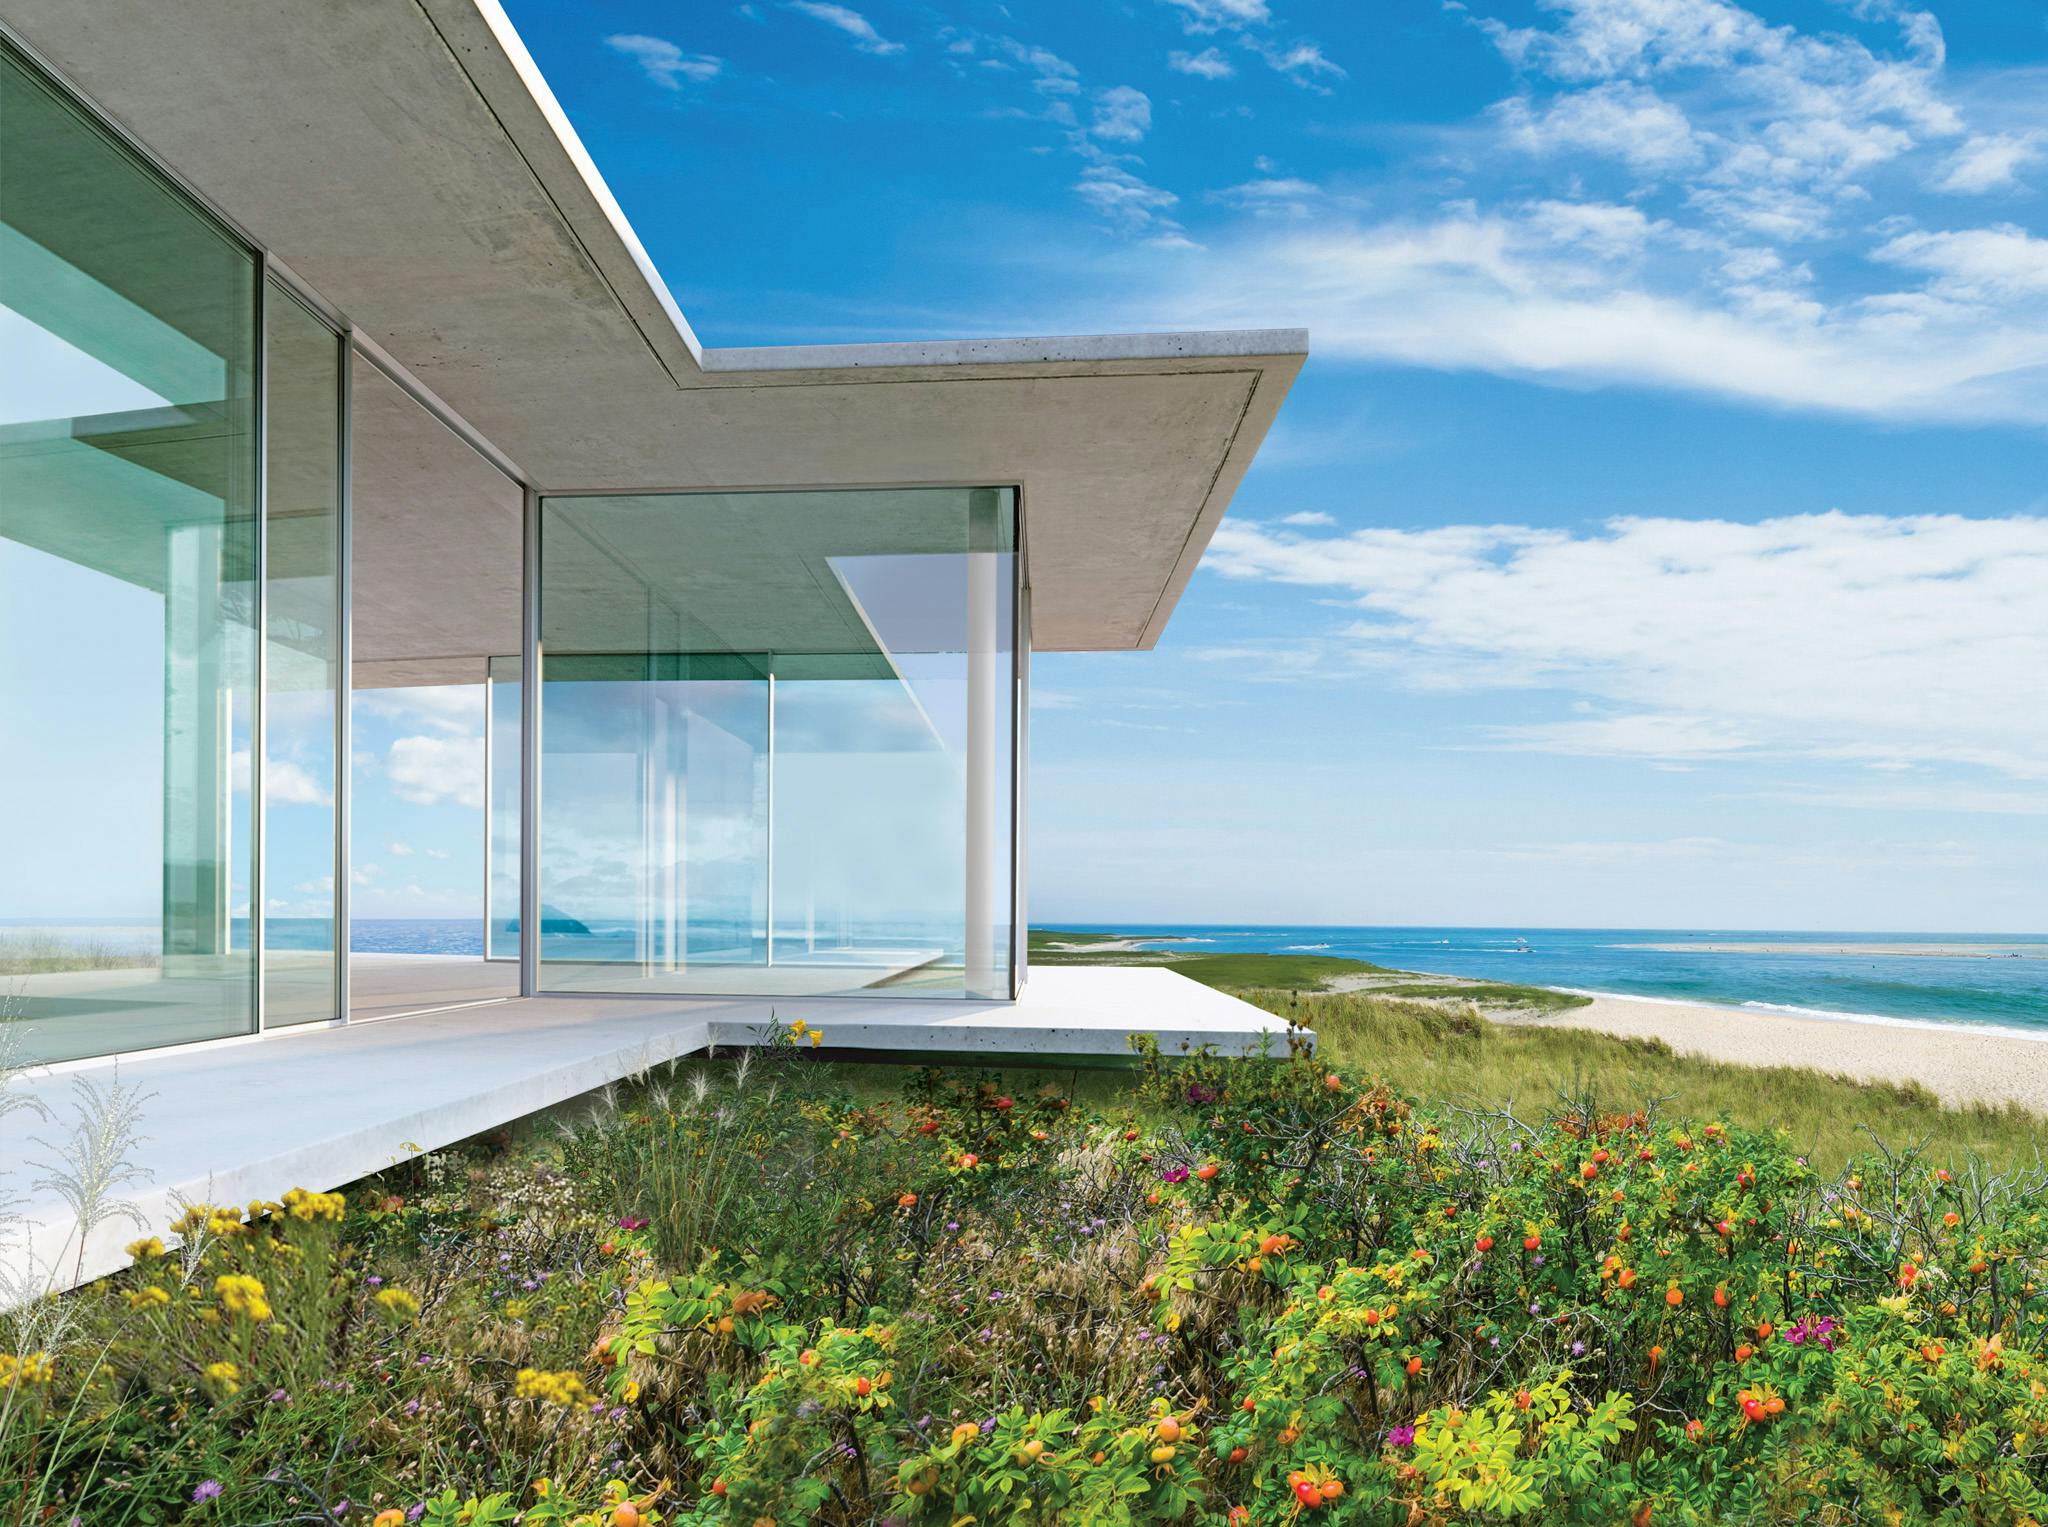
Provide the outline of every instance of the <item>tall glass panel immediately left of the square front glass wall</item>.
{"type": "Polygon", "coordinates": [[[518,718],[492,659],[520,647],[526,493],[365,356],[350,436],[350,1017],[498,1001],[518,993],[485,956],[516,909],[520,749],[516,727],[485,739],[518,718]],[[514,892],[487,907],[494,847],[514,892]]]}

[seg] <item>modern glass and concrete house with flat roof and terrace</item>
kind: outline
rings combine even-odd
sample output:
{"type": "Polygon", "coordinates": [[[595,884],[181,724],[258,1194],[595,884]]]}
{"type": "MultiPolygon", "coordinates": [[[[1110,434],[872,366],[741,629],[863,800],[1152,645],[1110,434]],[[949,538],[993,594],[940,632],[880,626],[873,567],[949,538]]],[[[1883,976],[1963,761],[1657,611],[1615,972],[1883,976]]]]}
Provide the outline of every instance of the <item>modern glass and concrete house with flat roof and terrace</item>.
{"type": "Polygon", "coordinates": [[[123,1056],[152,1183],[233,1197],[770,1013],[1257,1040],[1167,972],[1030,974],[1030,655],[1157,643],[1305,346],[707,350],[496,0],[0,0],[0,1007],[59,1064],[33,1085],[123,1056]],[[350,958],[352,700],[457,686],[487,958],[350,958]],[[106,831],[147,852],[82,905],[106,831]],[[76,927],[109,909],[147,909],[141,952],[76,927]]]}

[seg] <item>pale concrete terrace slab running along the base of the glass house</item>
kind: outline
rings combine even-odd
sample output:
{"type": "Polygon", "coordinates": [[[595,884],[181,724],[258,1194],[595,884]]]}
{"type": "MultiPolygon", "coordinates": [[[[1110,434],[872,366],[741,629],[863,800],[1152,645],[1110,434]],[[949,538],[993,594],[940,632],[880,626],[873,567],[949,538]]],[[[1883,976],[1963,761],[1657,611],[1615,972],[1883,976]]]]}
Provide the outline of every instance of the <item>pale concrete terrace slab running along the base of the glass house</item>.
{"type": "MultiPolygon", "coordinates": [[[[1159,968],[1051,968],[1014,1003],[936,999],[532,997],[346,1028],[285,1030],[14,1081],[47,1109],[0,1116],[0,1204],[16,1204],[0,1269],[57,1288],[127,1263],[184,1204],[330,1189],[711,1046],[760,1044],[803,1017],[825,1054],[934,1060],[1104,1060],[1139,1034],[1161,1050],[1286,1054],[1284,1023],[1159,968]],[[80,1083],[141,1095],[135,1218],[92,1226],[41,1185],[68,1154],[80,1083]]],[[[1307,1036],[1313,1042],[1313,1036],[1307,1036]]],[[[12,1281],[12,1279],[10,1279],[12,1281]]]]}

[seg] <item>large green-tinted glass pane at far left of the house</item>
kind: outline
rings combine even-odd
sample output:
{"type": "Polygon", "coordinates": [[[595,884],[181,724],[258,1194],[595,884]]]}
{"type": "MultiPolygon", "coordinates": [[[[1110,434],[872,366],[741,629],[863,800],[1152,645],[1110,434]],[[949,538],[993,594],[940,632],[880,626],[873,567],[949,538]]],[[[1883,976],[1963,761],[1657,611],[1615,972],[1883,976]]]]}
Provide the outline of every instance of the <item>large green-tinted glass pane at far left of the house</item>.
{"type": "Polygon", "coordinates": [[[0,1011],[33,1058],[256,1021],[254,317],[250,252],[0,49],[0,1011]]]}

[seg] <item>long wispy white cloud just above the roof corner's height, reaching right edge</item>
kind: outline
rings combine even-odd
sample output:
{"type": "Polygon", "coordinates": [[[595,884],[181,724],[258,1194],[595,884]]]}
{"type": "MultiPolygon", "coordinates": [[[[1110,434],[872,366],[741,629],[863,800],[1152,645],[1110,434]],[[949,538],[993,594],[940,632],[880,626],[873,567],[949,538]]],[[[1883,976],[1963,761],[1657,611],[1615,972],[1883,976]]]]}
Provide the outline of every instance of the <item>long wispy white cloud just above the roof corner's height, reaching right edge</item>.
{"type": "MultiPolygon", "coordinates": [[[[1686,272],[1616,278],[1599,244],[1561,248],[1559,229],[1546,203],[1513,213],[1450,207],[1376,225],[1268,225],[1184,266],[1174,305],[1202,328],[1307,323],[1323,356],[1647,383],[1886,418],[2048,422],[2048,311],[1929,301],[1942,289],[1827,303],[1798,291],[1796,268],[1780,287],[1702,287],[1686,272]]],[[[1626,217],[1604,229],[1610,239],[1632,231],[1626,217]]],[[[1700,244],[1696,231],[1681,233],[1700,244]]],[[[1905,235],[1884,258],[1939,268],[1958,291],[2032,293],[2044,248],[2017,229],[1991,229],[1905,235]]]]}

